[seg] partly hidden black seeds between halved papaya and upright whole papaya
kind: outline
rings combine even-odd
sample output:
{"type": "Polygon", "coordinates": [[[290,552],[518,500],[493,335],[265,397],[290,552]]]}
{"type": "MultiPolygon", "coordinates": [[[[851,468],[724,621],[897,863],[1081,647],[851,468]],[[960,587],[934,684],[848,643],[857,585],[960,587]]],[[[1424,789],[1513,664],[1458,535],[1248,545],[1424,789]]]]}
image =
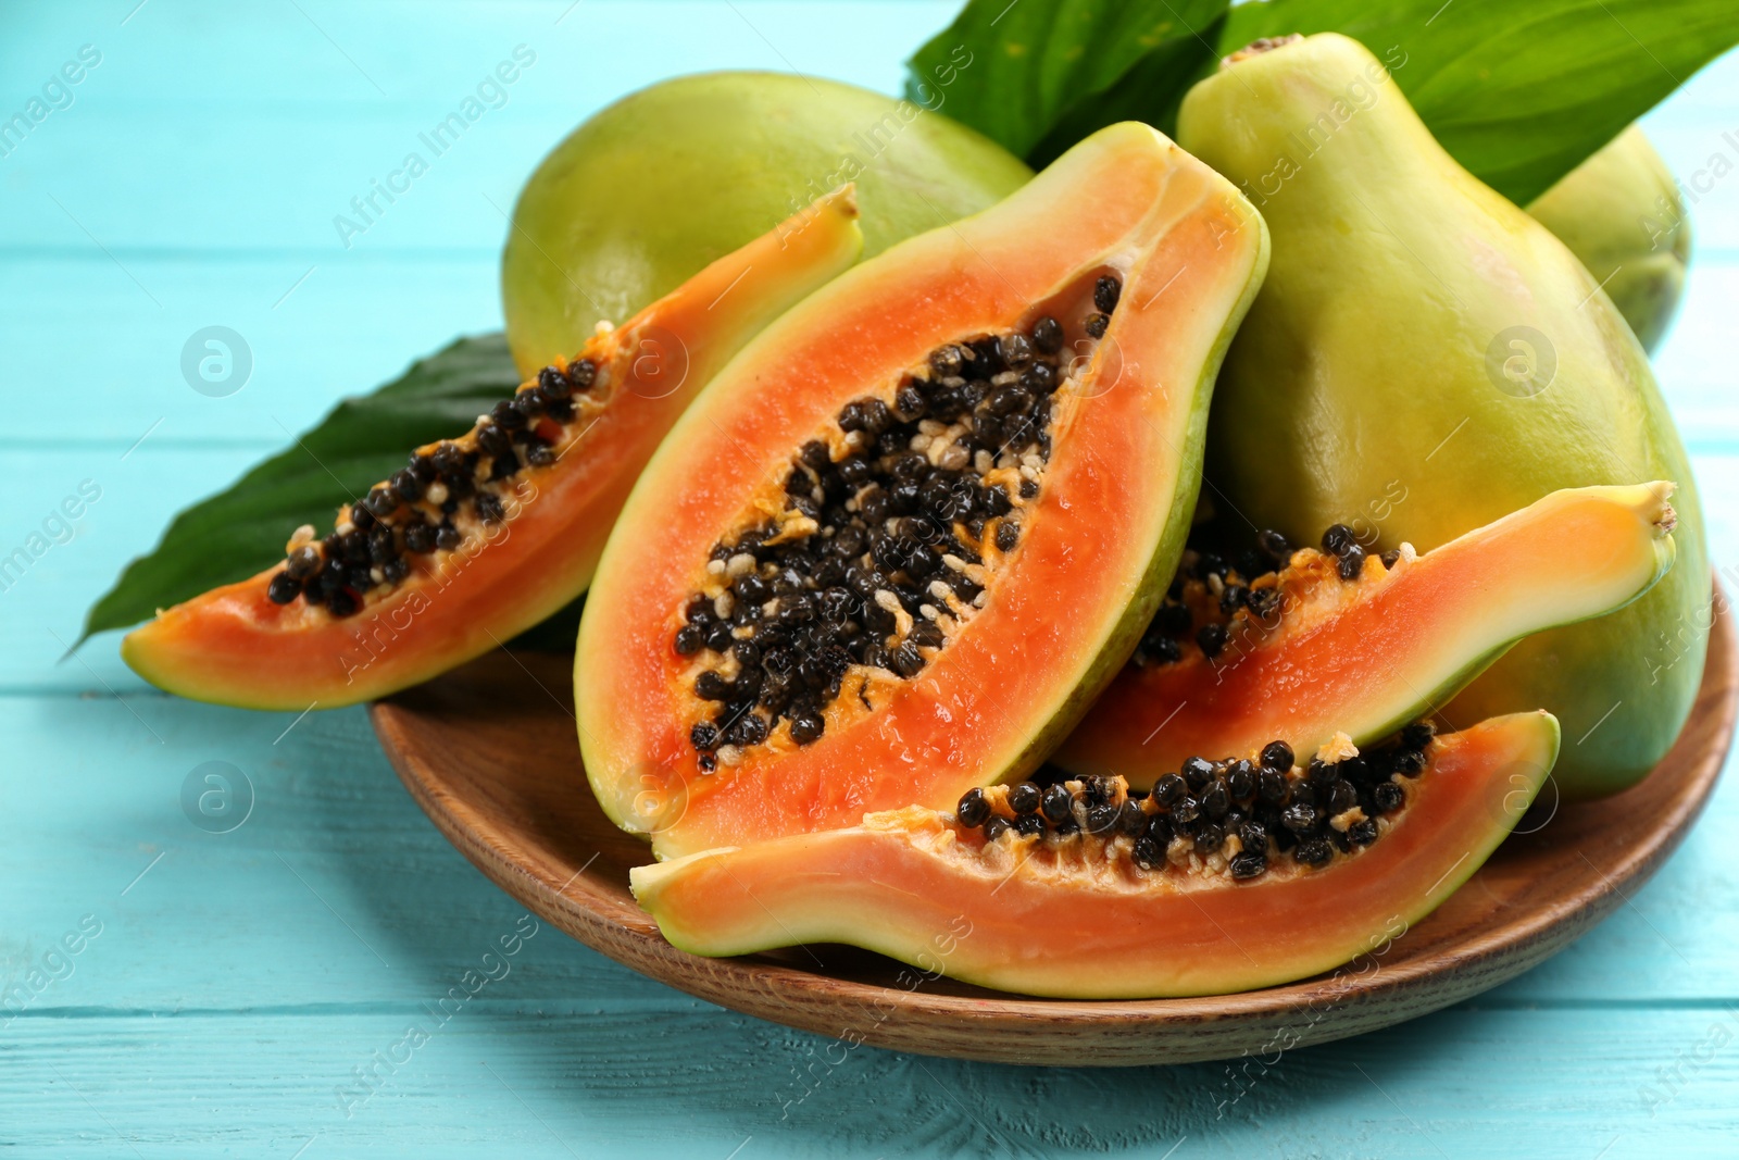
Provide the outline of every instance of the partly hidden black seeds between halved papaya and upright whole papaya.
{"type": "MultiPolygon", "coordinates": [[[[1344,523],[1323,532],[1322,546],[1336,558],[1336,570],[1343,581],[1356,581],[1370,555],[1344,523]]],[[[1282,598],[1278,584],[1269,577],[1287,567],[1294,551],[1292,541],[1273,530],[1259,532],[1254,546],[1235,553],[1217,551],[1191,537],[1177,576],[1172,577],[1165,600],[1148,623],[1148,631],[1136,645],[1130,663],[1172,664],[1184,657],[1184,645],[1189,642],[1212,661],[1231,640],[1231,626],[1240,612],[1264,628],[1276,626],[1282,598]]],[[[1400,551],[1393,550],[1381,555],[1384,567],[1395,567],[1398,558],[1400,551]]]]}

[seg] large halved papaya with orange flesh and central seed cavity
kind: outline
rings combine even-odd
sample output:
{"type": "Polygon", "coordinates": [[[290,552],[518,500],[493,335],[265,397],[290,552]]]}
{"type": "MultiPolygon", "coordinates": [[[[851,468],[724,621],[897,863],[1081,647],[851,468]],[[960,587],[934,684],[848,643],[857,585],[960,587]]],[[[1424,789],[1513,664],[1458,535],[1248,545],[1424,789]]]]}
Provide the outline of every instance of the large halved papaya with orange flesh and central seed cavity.
{"type": "Polygon", "coordinates": [[[1176,569],[1266,256],[1226,181],[1122,123],[763,332],[586,598],[605,812],[673,856],[1036,767],[1176,569]]]}

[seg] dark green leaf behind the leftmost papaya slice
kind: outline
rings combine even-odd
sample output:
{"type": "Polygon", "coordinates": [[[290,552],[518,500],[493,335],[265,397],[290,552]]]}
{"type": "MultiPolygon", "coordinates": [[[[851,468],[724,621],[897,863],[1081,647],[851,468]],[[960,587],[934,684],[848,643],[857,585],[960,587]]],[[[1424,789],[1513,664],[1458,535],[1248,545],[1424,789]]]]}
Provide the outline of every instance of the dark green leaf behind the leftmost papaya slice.
{"type": "Polygon", "coordinates": [[[518,384],[506,337],[485,334],[412,363],[372,395],[346,398],[296,445],[177,515],[157,548],[90,607],[78,640],[282,560],[299,525],[330,530],[337,508],[405,466],[412,449],[468,431],[518,384]]]}

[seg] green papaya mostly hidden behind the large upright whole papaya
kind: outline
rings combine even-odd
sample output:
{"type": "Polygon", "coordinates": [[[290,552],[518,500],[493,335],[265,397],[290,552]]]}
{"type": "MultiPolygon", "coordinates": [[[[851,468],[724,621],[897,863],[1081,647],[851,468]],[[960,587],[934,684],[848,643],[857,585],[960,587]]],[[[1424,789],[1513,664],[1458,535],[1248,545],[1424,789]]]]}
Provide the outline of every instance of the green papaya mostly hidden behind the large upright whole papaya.
{"type": "Polygon", "coordinates": [[[1558,235],[1654,351],[1690,263],[1690,217],[1673,172],[1638,125],[1541,193],[1527,212],[1558,235]]]}

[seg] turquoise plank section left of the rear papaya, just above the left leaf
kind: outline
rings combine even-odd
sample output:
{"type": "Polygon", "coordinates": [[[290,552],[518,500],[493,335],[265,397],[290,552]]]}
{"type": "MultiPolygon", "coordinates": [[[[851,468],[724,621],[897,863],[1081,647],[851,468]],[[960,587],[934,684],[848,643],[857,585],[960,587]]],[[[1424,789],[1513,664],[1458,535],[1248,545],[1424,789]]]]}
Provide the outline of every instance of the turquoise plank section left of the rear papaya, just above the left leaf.
{"type": "MultiPolygon", "coordinates": [[[[351,264],[323,257],[125,261],[127,271],[101,256],[0,264],[0,341],[14,351],[9,383],[19,397],[92,390],[101,398],[101,405],[80,407],[77,421],[59,407],[21,409],[0,447],[56,445],[71,435],[120,452],[146,431],[153,449],[188,442],[283,447],[341,397],[374,390],[456,336],[501,329],[496,254],[351,264]],[[92,332],[96,318],[101,334],[92,332]],[[235,346],[228,353],[250,363],[228,395],[193,386],[230,390],[209,386],[197,369],[209,351],[195,334],[210,325],[240,334],[240,346],[226,339],[235,346]],[[183,367],[190,344],[191,377],[183,367]],[[89,351],[94,365],[68,351],[89,351]]],[[[238,374],[238,365],[226,374],[238,374]]]]}

